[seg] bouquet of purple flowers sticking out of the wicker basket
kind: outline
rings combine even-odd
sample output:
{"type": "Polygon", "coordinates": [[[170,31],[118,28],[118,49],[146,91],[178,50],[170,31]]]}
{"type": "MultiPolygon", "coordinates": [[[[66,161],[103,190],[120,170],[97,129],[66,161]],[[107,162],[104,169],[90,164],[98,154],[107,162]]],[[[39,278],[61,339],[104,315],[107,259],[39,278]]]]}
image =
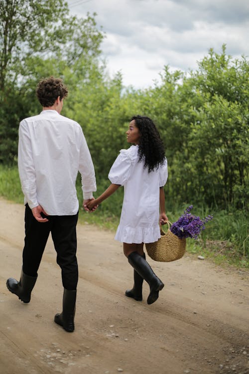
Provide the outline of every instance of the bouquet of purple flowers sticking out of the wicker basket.
{"type": "Polygon", "coordinates": [[[184,210],[184,214],[181,215],[180,218],[170,227],[170,231],[180,239],[188,237],[197,239],[200,232],[205,229],[205,223],[211,221],[213,218],[212,215],[208,215],[201,219],[190,213],[192,208],[193,205],[187,207],[187,209],[184,210]]]}

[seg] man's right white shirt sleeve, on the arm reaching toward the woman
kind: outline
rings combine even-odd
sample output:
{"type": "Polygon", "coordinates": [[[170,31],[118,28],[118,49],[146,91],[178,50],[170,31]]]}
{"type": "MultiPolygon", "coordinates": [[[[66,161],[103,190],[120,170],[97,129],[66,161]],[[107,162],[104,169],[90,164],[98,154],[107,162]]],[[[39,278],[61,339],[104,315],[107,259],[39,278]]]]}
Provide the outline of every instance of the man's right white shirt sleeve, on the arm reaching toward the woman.
{"type": "Polygon", "coordinates": [[[96,191],[97,188],[92,157],[81,128],[80,141],[79,172],[81,174],[83,198],[86,200],[93,197],[93,191],[96,191]]]}

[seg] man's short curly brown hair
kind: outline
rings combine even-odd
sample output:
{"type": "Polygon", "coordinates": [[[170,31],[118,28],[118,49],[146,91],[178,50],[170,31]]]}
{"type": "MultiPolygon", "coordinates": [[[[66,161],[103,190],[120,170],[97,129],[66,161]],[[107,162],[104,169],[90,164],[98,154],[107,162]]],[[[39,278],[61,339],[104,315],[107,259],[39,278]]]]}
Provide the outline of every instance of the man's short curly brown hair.
{"type": "Polygon", "coordinates": [[[40,80],[36,87],[36,96],[43,107],[51,107],[60,96],[60,101],[67,97],[67,87],[60,78],[53,76],[40,80]]]}

